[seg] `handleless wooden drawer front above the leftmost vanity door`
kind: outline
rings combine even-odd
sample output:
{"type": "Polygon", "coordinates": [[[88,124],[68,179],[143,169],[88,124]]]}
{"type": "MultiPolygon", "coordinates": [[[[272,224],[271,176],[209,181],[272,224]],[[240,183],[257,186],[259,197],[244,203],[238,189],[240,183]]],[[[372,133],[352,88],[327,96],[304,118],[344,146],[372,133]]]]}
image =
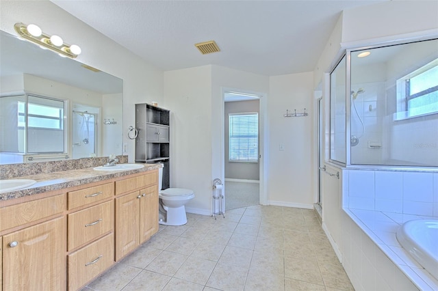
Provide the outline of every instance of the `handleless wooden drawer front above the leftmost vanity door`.
{"type": "Polygon", "coordinates": [[[64,208],[64,194],[0,208],[0,232],[61,213],[64,208]]]}

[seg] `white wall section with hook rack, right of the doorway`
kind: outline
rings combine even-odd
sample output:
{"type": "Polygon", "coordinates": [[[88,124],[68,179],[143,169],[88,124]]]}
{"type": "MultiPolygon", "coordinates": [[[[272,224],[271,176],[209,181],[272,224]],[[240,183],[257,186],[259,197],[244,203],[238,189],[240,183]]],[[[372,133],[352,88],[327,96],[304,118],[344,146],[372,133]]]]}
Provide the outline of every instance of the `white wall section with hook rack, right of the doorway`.
{"type": "Polygon", "coordinates": [[[270,204],[313,208],[313,73],[270,77],[270,204]],[[306,117],[283,117],[302,112],[306,117]],[[280,150],[283,145],[284,150],[280,150]]]}

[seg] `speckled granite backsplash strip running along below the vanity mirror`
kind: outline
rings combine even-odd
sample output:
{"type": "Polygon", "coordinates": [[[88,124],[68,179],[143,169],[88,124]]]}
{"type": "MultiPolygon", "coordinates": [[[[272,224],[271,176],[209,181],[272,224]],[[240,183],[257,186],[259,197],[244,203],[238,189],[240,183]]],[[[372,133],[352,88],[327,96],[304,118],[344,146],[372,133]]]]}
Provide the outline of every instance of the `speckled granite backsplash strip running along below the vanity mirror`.
{"type": "MultiPolygon", "coordinates": [[[[118,163],[128,163],[128,156],[117,156],[118,163]]],[[[49,174],[55,171],[69,171],[97,167],[107,163],[108,157],[101,158],[77,158],[66,161],[36,162],[0,165],[0,180],[29,175],[49,174]]]]}

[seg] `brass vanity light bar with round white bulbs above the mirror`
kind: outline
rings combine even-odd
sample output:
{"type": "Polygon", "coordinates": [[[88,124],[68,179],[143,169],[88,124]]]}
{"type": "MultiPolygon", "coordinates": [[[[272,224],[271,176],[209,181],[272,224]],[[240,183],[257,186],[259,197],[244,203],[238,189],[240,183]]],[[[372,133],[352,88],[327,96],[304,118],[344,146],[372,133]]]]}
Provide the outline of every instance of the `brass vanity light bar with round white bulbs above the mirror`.
{"type": "Polygon", "coordinates": [[[81,53],[81,48],[76,44],[65,44],[60,36],[49,36],[42,32],[40,27],[34,24],[24,25],[23,23],[15,23],[15,31],[25,40],[34,42],[41,48],[49,48],[52,51],[74,59],[81,53]]]}

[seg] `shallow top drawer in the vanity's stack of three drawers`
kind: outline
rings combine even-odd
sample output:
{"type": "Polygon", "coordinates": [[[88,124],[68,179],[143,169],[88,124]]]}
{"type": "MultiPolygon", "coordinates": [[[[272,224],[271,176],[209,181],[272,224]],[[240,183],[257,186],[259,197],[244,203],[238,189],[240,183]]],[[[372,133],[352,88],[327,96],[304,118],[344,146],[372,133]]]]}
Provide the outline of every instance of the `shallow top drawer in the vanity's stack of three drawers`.
{"type": "Polygon", "coordinates": [[[114,196],[114,183],[68,192],[68,210],[114,196]]]}

